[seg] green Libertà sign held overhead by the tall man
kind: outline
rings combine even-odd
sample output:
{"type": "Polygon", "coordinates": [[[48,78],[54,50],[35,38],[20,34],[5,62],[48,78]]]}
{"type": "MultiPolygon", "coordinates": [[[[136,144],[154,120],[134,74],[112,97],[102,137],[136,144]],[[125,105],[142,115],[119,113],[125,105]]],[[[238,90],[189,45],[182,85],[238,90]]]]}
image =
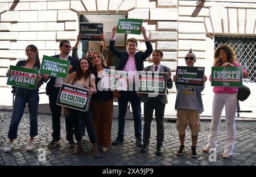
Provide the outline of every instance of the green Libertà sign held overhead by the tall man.
{"type": "Polygon", "coordinates": [[[129,33],[134,35],[140,35],[142,26],[141,19],[119,19],[117,25],[117,33],[129,33]]]}

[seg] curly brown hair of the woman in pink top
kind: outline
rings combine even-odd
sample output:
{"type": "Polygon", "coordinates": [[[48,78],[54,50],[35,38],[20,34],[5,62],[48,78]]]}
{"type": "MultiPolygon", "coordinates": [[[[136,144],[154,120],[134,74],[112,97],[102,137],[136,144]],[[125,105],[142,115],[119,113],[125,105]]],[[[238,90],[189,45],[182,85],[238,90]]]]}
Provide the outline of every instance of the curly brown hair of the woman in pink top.
{"type": "Polygon", "coordinates": [[[235,64],[237,62],[236,53],[234,50],[228,45],[221,45],[214,52],[214,64],[213,66],[221,66],[222,64],[219,62],[218,56],[220,56],[220,50],[224,50],[226,52],[227,60],[230,64],[235,64]]]}

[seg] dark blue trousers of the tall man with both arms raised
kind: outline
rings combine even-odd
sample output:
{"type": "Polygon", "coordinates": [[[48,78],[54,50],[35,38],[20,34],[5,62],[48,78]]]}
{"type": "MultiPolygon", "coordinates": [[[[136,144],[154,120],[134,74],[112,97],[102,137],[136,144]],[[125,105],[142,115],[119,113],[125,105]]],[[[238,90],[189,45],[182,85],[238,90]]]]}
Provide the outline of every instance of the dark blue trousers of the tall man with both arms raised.
{"type": "Polygon", "coordinates": [[[141,98],[137,96],[136,91],[119,91],[118,98],[118,133],[117,138],[123,140],[125,135],[125,116],[127,104],[130,100],[131,108],[133,109],[134,132],[136,138],[141,138],[142,123],[141,123],[141,98]]]}

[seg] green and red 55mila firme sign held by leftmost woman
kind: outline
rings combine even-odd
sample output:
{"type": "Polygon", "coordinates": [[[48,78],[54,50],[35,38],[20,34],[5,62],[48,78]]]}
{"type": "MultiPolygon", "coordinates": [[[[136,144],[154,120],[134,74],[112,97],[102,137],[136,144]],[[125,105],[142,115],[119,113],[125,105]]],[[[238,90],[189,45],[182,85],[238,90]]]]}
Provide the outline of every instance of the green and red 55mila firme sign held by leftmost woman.
{"type": "Polygon", "coordinates": [[[38,85],[38,70],[10,65],[10,74],[7,78],[7,85],[36,89],[38,85]]]}

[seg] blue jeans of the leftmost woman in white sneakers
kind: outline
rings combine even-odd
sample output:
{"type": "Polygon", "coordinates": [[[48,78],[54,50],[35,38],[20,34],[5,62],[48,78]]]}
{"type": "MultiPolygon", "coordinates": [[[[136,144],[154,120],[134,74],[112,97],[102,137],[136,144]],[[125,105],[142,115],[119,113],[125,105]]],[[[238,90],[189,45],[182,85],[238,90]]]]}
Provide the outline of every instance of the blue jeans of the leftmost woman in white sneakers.
{"type": "Polygon", "coordinates": [[[38,135],[38,89],[16,88],[15,100],[13,105],[13,114],[8,132],[8,138],[14,140],[17,138],[19,122],[22,119],[26,104],[30,112],[30,137],[38,135]]]}

